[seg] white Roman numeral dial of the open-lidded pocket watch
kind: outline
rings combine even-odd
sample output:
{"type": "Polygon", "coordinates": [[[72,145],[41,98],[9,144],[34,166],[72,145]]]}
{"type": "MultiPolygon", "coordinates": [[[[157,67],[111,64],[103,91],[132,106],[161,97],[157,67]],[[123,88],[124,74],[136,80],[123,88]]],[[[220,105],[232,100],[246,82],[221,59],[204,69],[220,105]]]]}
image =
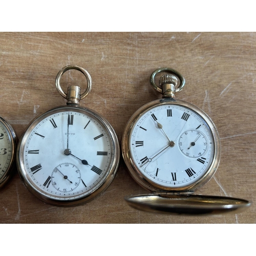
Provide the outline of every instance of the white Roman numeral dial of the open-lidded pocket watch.
{"type": "Polygon", "coordinates": [[[166,104],[147,111],[135,123],[131,139],[132,156],[141,173],[174,190],[202,177],[214,156],[208,125],[180,105],[166,104]]]}

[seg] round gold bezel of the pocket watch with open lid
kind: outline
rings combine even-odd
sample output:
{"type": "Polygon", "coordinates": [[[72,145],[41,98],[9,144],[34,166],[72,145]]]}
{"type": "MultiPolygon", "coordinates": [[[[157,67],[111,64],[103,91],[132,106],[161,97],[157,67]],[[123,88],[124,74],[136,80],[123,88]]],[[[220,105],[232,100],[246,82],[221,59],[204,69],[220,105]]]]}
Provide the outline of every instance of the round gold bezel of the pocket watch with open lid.
{"type": "Polygon", "coordinates": [[[121,147],[122,147],[122,156],[123,156],[124,162],[127,168],[129,169],[131,176],[134,178],[134,180],[138,184],[140,184],[142,187],[144,187],[145,189],[153,193],[163,193],[163,192],[164,193],[175,193],[175,192],[180,193],[182,191],[191,191],[191,190],[195,191],[199,187],[203,186],[206,182],[208,182],[210,178],[215,174],[220,162],[220,155],[221,155],[220,137],[214,122],[212,122],[209,116],[194,104],[191,104],[187,101],[180,100],[180,99],[169,99],[169,98],[151,101],[143,105],[131,116],[123,132],[121,147]],[[151,109],[157,106],[165,105],[165,104],[181,105],[181,106],[184,106],[185,108],[190,109],[191,111],[196,112],[207,123],[210,129],[210,132],[212,134],[212,138],[214,139],[214,157],[206,173],[201,178],[197,179],[195,182],[182,187],[177,187],[175,189],[171,189],[169,187],[165,187],[163,185],[154,183],[151,179],[143,175],[135,164],[135,161],[131,153],[131,147],[130,147],[132,131],[138,119],[140,119],[142,115],[144,115],[146,112],[150,111],[151,109]]]}

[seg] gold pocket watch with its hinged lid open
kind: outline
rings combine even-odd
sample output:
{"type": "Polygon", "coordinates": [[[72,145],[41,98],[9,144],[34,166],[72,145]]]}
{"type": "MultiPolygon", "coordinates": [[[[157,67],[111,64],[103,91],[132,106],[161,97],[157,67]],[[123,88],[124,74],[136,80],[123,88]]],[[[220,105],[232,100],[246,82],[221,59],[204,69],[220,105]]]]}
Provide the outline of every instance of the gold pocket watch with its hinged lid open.
{"type": "Polygon", "coordinates": [[[193,195],[214,175],[221,143],[215,124],[197,106],[176,99],[185,85],[176,70],[158,69],[151,85],[163,95],[137,110],[125,126],[122,155],[131,176],[150,195],[126,197],[140,210],[222,214],[250,205],[243,199],[193,195]],[[160,76],[159,85],[156,76],[160,76]]]}

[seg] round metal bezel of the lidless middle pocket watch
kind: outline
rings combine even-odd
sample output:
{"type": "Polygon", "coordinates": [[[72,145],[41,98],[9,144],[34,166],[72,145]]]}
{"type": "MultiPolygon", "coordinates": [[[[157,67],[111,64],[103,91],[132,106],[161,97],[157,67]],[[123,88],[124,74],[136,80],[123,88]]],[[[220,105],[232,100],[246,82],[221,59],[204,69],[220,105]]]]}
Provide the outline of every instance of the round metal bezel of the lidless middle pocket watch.
{"type": "MultiPolygon", "coordinates": [[[[118,142],[118,137],[112,127],[112,125],[109,123],[108,120],[106,120],[104,117],[102,117],[99,113],[82,106],[57,106],[56,108],[53,108],[51,110],[48,110],[37,117],[35,117],[27,126],[25,129],[25,132],[23,133],[22,137],[20,137],[19,143],[17,145],[17,152],[16,152],[16,162],[17,162],[17,168],[20,178],[22,179],[24,185],[27,187],[27,189],[37,198],[39,198],[41,201],[55,205],[55,206],[63,206],[63,207],[69,207],[69,206],[77,206],[84,203],[88,203],[89,201],[93,200],[95,197],[99,196],[106,188],[109,187],[111,182],[113,181],[118,165],[119,165],[119,158],[120,158],[120,147],[118,142]],[[61,112],[67,112],[67,111],[74,111],[86,114],[90,116],[93,119],[96,119],[100,125],[104,127],[104,130],[108,133],[109,138],[112,140],[113,148],[111,148],[112,160],[110,161],[108,172],[105,173],[105,176],[102,177],[104,179],[103,182],[98,187],[95,187],[94,190],[92,190],[90,193],[84,193],[85,196],[81,196],[76,199],[67,199],[67,197],[60,196],[58,199],[53,199],[49,196],[47,196],[46,191],[42,189],[38,189],[37,186],[34,186],[33,182],[31,182],[31,178],[26,170],[25,167],[25,159],[24,159],[24,152],[25,152],[25,144],[28,140],[29,135],[34,130],[36,125],[40,123],[42,120],[47,118],[48,116],[61,113],[61,112]]],[[[58,196],[56,196],[58,197],[58,196]]]]}

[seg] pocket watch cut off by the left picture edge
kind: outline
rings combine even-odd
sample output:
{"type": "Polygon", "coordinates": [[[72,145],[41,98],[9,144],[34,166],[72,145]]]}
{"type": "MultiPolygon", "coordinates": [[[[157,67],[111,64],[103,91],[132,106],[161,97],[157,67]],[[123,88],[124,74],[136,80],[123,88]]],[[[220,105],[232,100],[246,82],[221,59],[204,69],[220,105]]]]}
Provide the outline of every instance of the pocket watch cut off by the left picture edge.
{"type": "Polygon", "coordinates": [[[17,136],[13,127],[0,116],[0,187],[13,175],[17,136]]]}

